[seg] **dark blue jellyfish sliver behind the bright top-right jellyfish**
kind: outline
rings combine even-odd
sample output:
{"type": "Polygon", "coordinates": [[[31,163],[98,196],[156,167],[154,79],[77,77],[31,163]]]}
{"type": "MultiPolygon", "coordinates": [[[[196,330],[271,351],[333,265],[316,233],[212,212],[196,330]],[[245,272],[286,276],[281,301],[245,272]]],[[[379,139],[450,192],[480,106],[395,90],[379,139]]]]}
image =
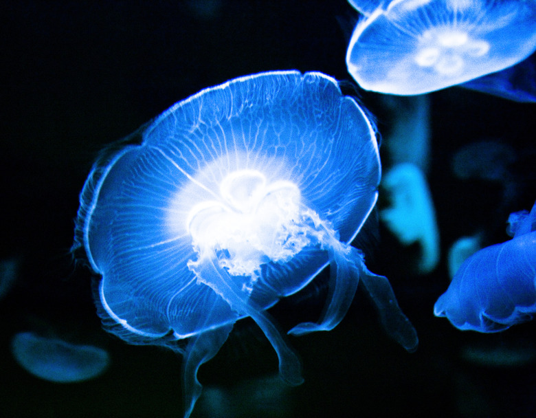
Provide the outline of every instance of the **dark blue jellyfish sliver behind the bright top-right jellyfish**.
{"type": "Polygon", "coordinates": [[[500,72],[460,85],[515,102],[536,102],[536,54],[500,72]]]}

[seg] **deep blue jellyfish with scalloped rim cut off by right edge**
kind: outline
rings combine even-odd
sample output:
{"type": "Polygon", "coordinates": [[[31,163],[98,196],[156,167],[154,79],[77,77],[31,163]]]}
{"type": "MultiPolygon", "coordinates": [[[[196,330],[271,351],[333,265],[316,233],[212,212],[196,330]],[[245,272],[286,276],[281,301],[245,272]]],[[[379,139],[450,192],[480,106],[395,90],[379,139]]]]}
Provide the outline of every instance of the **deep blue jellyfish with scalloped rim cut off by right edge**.
{"type": "Polygon", "coordinates": [[[458,329],[498,332],[536,313],[536,203],[510,214],[513,238],[467,259],[434,306],[458,329]]]}

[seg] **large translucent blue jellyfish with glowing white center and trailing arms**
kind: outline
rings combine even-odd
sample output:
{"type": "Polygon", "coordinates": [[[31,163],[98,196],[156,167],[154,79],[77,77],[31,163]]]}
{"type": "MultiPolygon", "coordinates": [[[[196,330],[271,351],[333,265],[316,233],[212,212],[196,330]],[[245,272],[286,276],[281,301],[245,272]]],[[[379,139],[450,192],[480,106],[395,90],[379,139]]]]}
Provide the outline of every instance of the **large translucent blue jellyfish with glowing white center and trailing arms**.
{"type": "Polygon", "coordinates": [[[188,417],[201,394],[199,366],[241,318],[265,333],[282,379],[302,382],[267,309],[328,264],[321,318],[290,334],[333,329],[362,283],[387,331],[416,349],[388,279],[350,245],[375,206],[380,170],[372,124],[333,78],[236,78],[178,102],[101,155],[80,195],[73,250],[101,276],[109,331],[183,355],[188,417]]]}

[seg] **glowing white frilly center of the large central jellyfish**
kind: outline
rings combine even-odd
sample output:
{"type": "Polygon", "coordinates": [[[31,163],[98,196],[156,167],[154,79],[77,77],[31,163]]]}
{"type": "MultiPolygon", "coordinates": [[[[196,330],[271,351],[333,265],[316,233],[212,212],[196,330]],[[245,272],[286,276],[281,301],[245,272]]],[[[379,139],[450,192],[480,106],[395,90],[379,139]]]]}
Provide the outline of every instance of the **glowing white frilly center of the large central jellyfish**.
{"type": "Polygon", "coordinates": [[[291,181],[268,184],[257,170],[237,170],[221,181],[220,194],[221,201],[203,201],[190,210],[186,229],[199,258],[216,254],[232,276],[254,281],[261,264],[285,263],[311,239],[322,239],[315,228],[320,218],[302,206],[291,181]]]}

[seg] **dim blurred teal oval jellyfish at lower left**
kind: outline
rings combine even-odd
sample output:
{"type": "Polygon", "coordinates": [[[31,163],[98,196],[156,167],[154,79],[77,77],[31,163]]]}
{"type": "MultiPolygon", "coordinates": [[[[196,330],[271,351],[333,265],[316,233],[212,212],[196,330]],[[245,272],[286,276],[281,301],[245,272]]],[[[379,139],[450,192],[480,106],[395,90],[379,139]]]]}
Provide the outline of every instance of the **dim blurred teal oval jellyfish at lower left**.
{"type": "Polygon", "coordinates": [[[56,383],[93,379],[104,373],[110,363],[108,353],[98,347],[75,345],[31,332],[16,334],[11,352],[25,371],[56,383]]]}

